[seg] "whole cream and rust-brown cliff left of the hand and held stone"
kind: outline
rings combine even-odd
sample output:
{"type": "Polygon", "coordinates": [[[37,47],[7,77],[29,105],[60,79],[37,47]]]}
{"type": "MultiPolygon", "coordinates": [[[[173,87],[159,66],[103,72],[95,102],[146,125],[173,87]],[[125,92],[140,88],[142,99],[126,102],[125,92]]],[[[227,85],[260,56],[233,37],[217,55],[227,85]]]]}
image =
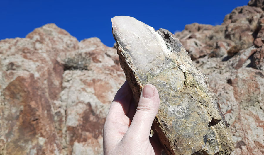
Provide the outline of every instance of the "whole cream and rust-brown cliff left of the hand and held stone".
{"type": "Polygon", "coordinates": [[[55,24],[0,41],[0,154],[99,155],[114,94],[116,49],[55,24]]]}

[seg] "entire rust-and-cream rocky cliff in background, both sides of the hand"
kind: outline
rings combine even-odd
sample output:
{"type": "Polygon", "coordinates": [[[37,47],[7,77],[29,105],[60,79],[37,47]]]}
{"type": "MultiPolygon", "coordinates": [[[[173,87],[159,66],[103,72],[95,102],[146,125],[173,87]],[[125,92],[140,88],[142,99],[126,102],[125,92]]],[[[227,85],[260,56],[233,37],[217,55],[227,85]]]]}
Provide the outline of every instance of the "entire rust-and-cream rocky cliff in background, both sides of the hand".
{"type": "MultiPolygon", "coordinates": [[[[264,154],[263,8],[251,0],[222,25],[175,34],[219,97],[233,155],[264,154]]],[[[0,76],[0,154],[102,154],[104,120],[126,79],[116,49],[47,24],[0,41],[0,76]]]]}

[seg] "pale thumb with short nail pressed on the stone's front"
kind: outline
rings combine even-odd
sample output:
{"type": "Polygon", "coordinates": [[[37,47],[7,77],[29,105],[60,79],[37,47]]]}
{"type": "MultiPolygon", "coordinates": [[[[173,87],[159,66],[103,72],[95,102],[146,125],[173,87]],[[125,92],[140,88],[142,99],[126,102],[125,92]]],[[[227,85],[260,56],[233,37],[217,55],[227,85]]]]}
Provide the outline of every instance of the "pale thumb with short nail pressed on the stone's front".
{"type": "MultiPolygon", "coordinates": [[[[137,111],[126,134],[128,137],[135,136],[137,139],[149,139],[149,133],[155,116],[158,113],[160,99],[155,86],[148,84],[143,88],[137,111]]],[[[126,136],[126,135],[125,135],[126,136]]]]}

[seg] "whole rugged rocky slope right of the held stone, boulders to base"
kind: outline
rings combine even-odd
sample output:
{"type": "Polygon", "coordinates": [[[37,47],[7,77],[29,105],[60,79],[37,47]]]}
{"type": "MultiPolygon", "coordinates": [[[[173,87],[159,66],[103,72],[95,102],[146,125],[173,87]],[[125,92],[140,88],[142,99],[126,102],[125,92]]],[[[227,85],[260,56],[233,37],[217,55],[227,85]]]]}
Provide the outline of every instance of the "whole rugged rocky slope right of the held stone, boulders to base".
{"type": "Polygon", "coordinates": [[[226,15],[221,25],[194,23],[175,34],[186,49],[193,48],[188,52],[194,65],[207,74],[219,97],[235,142],[233,155],[264,154],[262,9],[263,0],[251,0],[226,15]]]}

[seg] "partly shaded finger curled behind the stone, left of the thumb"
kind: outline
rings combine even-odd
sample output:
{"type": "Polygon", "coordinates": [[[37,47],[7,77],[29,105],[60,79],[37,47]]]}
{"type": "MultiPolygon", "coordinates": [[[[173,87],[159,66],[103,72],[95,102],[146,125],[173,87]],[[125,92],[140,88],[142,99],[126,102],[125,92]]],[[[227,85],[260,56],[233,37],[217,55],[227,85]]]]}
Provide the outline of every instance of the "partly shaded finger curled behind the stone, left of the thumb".
{"type": "Polygon", "coordinates": [[[107,146],[116,144],[126,133],[130,122],[126,113],[129,111],[131,98],[131,89],[127,81],[125,81],[123,86],[117,91],[116,96],[110,105],[104,124],[104,143],[107,146]]]}

